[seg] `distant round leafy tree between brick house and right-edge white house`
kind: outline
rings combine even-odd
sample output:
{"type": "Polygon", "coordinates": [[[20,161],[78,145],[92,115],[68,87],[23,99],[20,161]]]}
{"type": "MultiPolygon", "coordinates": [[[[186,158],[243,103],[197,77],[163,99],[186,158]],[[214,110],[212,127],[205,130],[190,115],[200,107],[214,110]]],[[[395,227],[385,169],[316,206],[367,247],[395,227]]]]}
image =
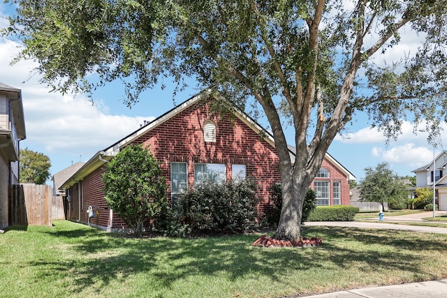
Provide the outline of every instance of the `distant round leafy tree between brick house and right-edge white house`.
{"type": "Polygon", "coordinates": [[[379,163],[375,169],[367,167],[358,187],[363,202],[379,202],[382,207],[388,202],[390,208],[400,209],[408,198],[405,184],[390,170],[388,163],[379,163]]]}

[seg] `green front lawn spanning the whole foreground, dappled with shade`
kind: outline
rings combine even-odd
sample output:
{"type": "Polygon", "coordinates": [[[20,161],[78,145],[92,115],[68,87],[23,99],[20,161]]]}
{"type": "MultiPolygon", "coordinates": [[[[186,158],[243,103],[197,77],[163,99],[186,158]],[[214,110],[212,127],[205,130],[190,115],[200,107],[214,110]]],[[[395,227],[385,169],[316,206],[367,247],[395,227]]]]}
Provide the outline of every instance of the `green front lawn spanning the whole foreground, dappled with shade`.
{"type": "Polygon", "coordinates": [[[447,278],[447,235],[309,227],[321,248],[259,234],[130,239],[85,225],[0,234],[2,297],[278,297],[447,278]]]}

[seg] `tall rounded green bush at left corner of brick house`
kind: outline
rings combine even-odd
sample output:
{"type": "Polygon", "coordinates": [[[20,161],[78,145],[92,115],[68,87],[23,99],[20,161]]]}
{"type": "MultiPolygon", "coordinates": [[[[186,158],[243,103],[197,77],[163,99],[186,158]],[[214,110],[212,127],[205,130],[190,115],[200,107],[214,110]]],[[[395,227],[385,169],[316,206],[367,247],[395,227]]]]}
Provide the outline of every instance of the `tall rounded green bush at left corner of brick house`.
{"type": "Polygon", "coordinates": [[[166,180],[156,158],[142,145],[129,145],[108,164],[103,174],[108,206],[139,236],[163,209],[166,180]]]}

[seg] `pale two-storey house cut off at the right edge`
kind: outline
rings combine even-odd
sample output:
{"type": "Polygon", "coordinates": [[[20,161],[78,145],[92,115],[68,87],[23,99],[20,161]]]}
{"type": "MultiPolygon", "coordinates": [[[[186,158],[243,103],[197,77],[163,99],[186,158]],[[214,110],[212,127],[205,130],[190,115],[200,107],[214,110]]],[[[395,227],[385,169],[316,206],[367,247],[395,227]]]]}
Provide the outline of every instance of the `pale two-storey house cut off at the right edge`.
{"type": "Polygon", "coordinates": [[[416,173],[416,188],[433,188],[435,190],[435,202],[438,205],[439,210],[447,210],[447,151],[442,151],[433,161],[428,165],[419,167],[411,172],[416,173]],[[434,180],[433,180],[434,178],[434,180]]]}

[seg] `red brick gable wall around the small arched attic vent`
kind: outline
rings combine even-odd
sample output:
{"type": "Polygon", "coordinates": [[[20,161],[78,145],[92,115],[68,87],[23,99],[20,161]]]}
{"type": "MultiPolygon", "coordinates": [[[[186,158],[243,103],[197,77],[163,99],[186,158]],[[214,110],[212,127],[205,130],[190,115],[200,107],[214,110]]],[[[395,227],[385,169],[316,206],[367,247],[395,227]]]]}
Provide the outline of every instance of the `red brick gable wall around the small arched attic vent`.
{"type": "MultiPolygon", "coordinates": [[[[226,177],[231,178],[231,165],[247,167],[247,177],[256,177],[258,195],[263,198],[263,211],[271,194],[271,186],[280,182],[279,159],[274,147],[263,140],[240,119],[220,117],[210,112],[204,102],[196,103],[175,117],[153,128],[149,133],[135,140],[145,143],[156,158],[161,161],[163,176],[170,186],[170,163],[188,163],[189,187],[194,184],[194,163],[223,163],[226,177]],[[205,142],[203,125],[212,120],[217,125],[216,142],[205,142]]],[[[170,188],[168,188],[170,198],[170,188]]]]}

